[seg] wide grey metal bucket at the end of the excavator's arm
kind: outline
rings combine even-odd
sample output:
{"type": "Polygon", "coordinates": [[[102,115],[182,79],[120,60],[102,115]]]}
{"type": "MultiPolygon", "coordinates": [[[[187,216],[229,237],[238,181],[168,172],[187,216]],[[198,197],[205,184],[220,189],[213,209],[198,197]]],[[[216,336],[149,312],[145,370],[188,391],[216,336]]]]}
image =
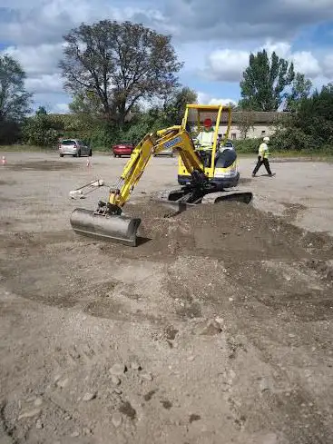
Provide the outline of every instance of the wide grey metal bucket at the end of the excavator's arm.
{"type": "Polygon", "coordinates": [[[73,231],[96,240],[122,243],[135,247],[141,219],[123,215],[102,215],[76,208],[70,218],[73,231]]]}

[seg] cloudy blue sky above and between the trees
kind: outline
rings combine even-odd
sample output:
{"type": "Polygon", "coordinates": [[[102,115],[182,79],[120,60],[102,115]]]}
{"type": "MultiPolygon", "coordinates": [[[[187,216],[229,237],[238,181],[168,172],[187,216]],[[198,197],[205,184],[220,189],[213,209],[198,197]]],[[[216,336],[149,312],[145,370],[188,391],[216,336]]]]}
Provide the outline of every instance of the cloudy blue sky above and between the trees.
{"type": "Polygon", "coordinates": [[[333,81],[333,0],[0,0],[0,54],[23,66],[34,109],[68,112],[57,64],[81,23],[130,20],[171,35],[181,84],[201,104],[237,103],[250,52],[266,48],[314,87],[333,81]]]}

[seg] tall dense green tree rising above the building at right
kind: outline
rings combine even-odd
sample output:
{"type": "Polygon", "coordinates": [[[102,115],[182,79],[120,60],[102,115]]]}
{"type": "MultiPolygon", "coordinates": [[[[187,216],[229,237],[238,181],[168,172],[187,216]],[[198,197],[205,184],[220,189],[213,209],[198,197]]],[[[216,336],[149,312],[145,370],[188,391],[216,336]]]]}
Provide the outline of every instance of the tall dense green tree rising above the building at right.
{"type": "Polygon", "coordinates": [[[277,111],[286,88],[295,78],[294,65],[266,50],[250,54],[249,66],[240,82],[242,109],[277,111]]]}

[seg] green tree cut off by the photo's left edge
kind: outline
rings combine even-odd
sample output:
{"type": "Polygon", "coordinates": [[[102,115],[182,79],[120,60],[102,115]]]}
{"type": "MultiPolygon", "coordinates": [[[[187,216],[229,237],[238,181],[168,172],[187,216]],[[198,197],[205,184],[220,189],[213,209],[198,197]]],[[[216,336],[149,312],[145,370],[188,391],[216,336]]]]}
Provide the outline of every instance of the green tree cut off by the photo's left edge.
{"type": "Polygon", "coordinates": [[[20,122],[30,111],[32,94],[25,91],[25,73],[10,55],[0,55],[0,122],[20,122]]]}

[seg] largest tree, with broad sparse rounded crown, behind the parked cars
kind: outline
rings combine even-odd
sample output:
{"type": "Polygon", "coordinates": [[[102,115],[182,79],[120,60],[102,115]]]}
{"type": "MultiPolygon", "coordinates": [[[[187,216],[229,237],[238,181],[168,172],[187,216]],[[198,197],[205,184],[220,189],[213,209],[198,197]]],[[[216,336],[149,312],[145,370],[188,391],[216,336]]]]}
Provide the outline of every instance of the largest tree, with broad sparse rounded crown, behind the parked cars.
{"type": "Polygon", "coordinates": [[[98,97],[110,122],[126,120],[141,99],[169,94],[182,64],[171,36],[131,22],[103,20],[82,24],[64,35],[60,67],[65,88],[73,94],[98,97]]]}

